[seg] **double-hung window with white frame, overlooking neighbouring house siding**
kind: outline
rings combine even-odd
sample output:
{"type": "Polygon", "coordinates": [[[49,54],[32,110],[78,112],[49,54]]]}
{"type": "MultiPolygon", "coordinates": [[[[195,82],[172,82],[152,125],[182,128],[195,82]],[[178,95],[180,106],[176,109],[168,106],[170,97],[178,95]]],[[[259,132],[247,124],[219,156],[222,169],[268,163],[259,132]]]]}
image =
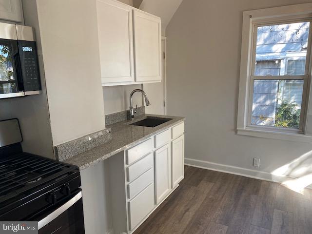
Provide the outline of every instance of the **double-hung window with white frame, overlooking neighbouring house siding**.
{"type": "Polygon", "coordinates": [[[306,134],[312,12],[295,6],[244,12],[238,134],[306,134]]]}

